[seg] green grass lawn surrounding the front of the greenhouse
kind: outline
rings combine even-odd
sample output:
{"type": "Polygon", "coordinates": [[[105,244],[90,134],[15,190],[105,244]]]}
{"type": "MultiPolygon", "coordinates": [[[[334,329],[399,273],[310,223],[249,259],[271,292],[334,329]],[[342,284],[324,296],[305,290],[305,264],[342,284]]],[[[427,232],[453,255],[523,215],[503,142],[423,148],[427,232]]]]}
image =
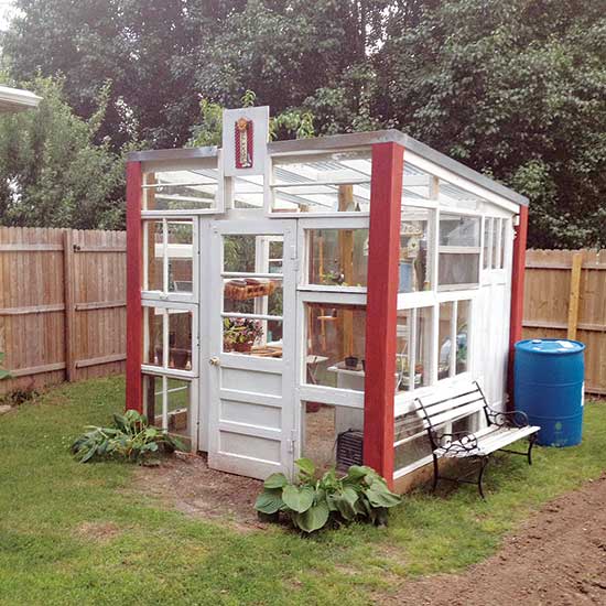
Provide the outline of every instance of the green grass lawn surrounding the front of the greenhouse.
{"type": "Polygon", "coordinates": [[[531,468],[495,462],[486,502],[475,487],[416,493],[386,529],[238,532],[133,494],[129,465],[73,461],[72,439],[121,410],[122,391],[121,379],[65,386],[0,418],[0,604],[368,604],[486,558],[529,511],[606,467],[606,404],[587,404],[582,446],[537,447],[531,468]]]}

